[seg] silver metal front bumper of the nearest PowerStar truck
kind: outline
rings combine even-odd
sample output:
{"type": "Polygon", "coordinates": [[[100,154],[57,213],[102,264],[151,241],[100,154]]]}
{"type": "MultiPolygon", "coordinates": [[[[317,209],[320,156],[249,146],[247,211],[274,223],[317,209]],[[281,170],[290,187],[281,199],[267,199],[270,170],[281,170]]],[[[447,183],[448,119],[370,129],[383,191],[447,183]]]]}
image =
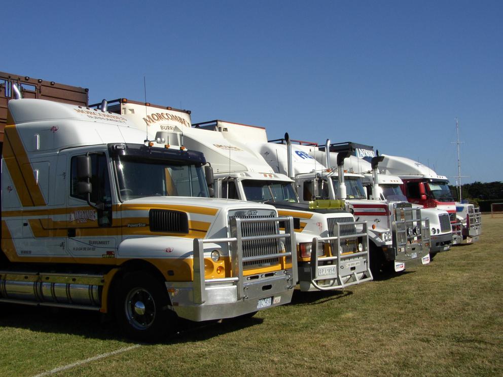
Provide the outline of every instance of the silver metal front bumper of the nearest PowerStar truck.
{"type": "Polygon", "coordinates": [[[166,282],[171,309],[179,317],[192,321],[233,318],[288,304],[292,300],[294,287],[292,276],[282,271],[278,276],[247,281],[243,284],[245,295],[240,299],[235,284],[207,283],[204,303],[196,304],[191,282],[166,282]]]}

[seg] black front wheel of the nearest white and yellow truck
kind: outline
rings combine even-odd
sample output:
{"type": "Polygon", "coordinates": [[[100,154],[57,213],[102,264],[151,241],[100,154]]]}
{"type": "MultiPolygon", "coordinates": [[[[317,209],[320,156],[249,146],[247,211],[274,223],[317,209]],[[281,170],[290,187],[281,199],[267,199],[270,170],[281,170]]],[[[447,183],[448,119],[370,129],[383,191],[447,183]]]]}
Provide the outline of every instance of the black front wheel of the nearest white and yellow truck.
{"type": "Polygon", "coordinates": [[[152,343],[162,340],[176,326],[168,293],[161,280],[147,272],[124,276],[117,287],[115,315],[126,337],[152,343]]]}

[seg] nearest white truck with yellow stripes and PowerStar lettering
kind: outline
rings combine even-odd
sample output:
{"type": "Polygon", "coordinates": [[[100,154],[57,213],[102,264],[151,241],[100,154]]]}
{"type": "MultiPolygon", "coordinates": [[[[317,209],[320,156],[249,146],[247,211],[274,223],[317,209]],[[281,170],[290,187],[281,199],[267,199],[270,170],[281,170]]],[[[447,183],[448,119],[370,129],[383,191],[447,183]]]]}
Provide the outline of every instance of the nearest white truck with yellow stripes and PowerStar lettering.
{"type": "Polygon", "coordinates": [[[128,337],[151,341],[177,317],[247,316],[291,301],[293,218],[209,198],[203,154],[149,126],[189,124],[190,112],[117,114],[105,101],[98,110],[14,92],[0,303],[113,313],[128,337]]]}

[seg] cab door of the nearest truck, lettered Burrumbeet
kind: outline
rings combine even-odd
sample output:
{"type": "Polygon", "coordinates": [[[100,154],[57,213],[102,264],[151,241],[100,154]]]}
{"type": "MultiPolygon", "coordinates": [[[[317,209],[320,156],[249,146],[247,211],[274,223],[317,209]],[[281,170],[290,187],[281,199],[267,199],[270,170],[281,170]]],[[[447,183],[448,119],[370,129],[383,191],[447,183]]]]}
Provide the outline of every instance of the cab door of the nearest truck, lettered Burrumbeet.
{"type": "MultiPolygon", "coordinates": [[[[90,152],[92,194],[90,206],[87,196],[77,194],[77,156],[67,159],[67,251],[75,258],[113,258],[120,226],[113,226],[112,190],[109,158],[103,152],[90,152]]],[[[117,222],[117,221],[116,221],[117,222]]]]}

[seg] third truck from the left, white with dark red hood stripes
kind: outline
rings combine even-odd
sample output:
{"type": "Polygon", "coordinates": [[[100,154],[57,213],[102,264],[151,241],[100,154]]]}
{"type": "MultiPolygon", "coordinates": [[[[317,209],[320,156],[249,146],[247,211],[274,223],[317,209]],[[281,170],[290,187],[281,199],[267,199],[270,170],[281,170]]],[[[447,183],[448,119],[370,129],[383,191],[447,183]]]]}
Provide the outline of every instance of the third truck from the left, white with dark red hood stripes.
{"type": "MultiPolygon", "coordinates": [[[[316,143],[294,142],[298,144],[290,146],[294,156],[292,176],[301,202],[313,196],[347,200],[355,219],[368,223],[374,274],[389,268],[399,272],[429,263],[429,221],[421,218],[418,209],[413,209],[408,202],[368,200],[362,184],[363,176],[344,171],[344,161],[350,157],[349,151],[339,149],[338,154],[326,154],[316,143]],[[321,161],[325,161],[325,165],[321,161]],[[337,166],[337,169],[333,166],[337,166]],[[313,183],[316,192],[310,190],[313,183]]],[[[272,167],[285,172],[288,170],[286,157],[289,155],[287,150],[290,143],[291,140],[286,137],[264,143],[261,152],[272,167]]],[[[332,150],[330,148],[329,145],[327,150],[332,150]]]]}

